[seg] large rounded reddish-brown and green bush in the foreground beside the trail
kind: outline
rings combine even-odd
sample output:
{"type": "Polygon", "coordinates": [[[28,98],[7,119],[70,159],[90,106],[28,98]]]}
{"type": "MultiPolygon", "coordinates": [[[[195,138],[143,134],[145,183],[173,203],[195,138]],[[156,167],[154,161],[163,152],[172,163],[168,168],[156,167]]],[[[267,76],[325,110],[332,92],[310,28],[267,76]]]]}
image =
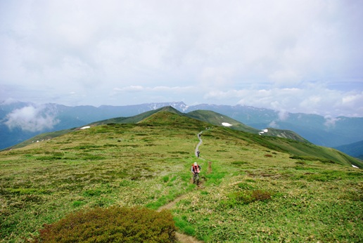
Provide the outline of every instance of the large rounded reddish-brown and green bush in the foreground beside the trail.
{"type": "Polygon", "coordinates": [[[111,206],[44,225],[33,242],[176,242],[170,211],[111,206]]]}

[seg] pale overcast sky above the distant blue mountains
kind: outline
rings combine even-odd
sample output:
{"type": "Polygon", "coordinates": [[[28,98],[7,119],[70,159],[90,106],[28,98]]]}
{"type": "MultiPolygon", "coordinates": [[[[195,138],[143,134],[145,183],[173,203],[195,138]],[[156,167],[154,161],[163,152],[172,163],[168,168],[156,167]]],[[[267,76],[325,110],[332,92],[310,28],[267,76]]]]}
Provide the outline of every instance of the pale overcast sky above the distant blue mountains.
{"type": "Polygon", "coordinates": [[[2,100],[363,117],[363,2],[1,0],[2,100]]]}

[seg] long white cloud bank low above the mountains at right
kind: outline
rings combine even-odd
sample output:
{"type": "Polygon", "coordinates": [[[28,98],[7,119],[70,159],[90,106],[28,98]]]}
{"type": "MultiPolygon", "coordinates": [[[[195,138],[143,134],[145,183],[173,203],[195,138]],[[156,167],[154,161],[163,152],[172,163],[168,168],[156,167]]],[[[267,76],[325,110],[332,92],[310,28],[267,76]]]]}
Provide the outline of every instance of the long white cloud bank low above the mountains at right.
{"type": "Polygon", "coordinates": [[[321,85],[210,91],[204,97],[210,100],[238,98],[241,105],[267,107],[279,111],[281,120],[287,118],[288,112],[357,117],[357,114],[362,114],[363,109],[363,92],[336,91],[321,85]]]}

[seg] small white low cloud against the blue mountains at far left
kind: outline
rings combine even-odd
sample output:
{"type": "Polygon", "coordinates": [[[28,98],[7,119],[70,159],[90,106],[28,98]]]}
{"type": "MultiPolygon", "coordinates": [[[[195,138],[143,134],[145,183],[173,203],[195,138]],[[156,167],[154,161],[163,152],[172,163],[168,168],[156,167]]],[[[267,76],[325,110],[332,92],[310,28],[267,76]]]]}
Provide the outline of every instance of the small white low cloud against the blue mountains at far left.
{"type": "Polygon", "coordinates": [[[60,121],[44,107],[27,106],[13,110],[6,116],[5,124],[9,129],[20,128],[23,131],[44,131],[52,129],[60,121]]]}

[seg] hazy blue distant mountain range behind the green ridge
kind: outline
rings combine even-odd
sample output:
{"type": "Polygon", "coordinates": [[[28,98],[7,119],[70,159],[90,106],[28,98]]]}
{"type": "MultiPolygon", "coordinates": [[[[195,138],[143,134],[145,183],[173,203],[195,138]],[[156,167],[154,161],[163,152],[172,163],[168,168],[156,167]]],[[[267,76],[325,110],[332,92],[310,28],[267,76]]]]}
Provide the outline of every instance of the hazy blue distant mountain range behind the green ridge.
{"type": "Polygon", "coordinates": [[[58,104],[0,103],[0,149],[13,146],[39,133],[60,131],[115,117],[132,117],[160,107],[180,112],[209,110],[241,122],[258,131],[289,130],[316,145],[338,147],[363,140],[362,117],[322,117],[317,114],[281,113],[245,105],[186,105],[183,102],[140,105],[75,106],[58,104]]]}

